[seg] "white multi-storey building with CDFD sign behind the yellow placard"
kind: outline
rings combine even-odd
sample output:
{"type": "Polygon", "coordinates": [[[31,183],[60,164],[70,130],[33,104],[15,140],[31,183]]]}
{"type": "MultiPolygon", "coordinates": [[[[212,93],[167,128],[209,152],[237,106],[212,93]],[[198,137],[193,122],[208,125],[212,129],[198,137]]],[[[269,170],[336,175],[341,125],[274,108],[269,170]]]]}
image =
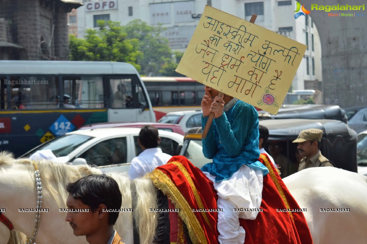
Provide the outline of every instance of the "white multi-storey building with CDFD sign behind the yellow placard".
{"type": "Polygon", "coordinates": [[[292,90],[320,90],[321,46],[319,33],[309,15],[294,18],[296,1],[276,0],[101,0],[84,1],[78,9],[77,36],[95,28],[98,20],[112,20],[125,25],[133,19],[141,19],[151,25],[162,24],[167,29],[161,36],[169,40],[172,51],[185,51],[195,31],[201,13],[207,5],[250,20],[266,29],[308,45],[299,69],[292,81],[292,90]]]}

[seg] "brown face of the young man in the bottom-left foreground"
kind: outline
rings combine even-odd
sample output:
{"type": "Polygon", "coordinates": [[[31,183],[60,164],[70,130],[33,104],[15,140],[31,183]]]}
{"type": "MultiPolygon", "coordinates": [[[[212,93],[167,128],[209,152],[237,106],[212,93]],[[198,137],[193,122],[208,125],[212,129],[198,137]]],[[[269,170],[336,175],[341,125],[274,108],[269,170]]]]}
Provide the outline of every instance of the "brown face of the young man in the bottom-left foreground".
{"type": "MultiPolygon", "coordinates": [[[[70,194],[66,200],[66,206],[70,209],[89,208],[79,199],[74,199],[70,194]]],[[[68,212],[65,221],[68,221],[76,236],[88,236],[95,233],[99,228],[98,210],[92,212],[68,212]]]]}

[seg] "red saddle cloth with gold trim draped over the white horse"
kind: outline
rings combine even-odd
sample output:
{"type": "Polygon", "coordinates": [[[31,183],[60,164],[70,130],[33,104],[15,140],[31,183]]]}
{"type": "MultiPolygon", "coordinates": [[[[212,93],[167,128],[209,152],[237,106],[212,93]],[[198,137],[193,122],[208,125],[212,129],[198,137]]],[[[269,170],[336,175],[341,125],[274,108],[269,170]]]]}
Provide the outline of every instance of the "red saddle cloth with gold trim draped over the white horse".
{"type": "MultiPolygon", "coordinates": [[[[240,219],[246,231],[245,244],[250,243],[312,243],[312,237],[302,212],[277,212],[277,209],[300,209],[266,156],[259,161],[272,172],[264,176],[261,207],[255,220],[240,219]],[[273,181],[273,179],[274,181],[273,181]],[[278,188],[277,188],[278,187],[278,188]],[[279,190],[278,190],[279,189],[279,190]],[[283,197],[282,197],[283,195],[283,197]]],[[[185,222],[193,243],[218,243],[217,193],[213,183],[183,156],[174,156],[150,175],[156,187],[163,191],[178,216],[170,213],[171,242],[185,243],[181,219],[185,222]],[[172,205],[172,204],[171,204],[172,205]],[[195,211],[193,211],[195,209],[195,211]],[[206,210],[208,212],[196,212],[206,210]]]]}

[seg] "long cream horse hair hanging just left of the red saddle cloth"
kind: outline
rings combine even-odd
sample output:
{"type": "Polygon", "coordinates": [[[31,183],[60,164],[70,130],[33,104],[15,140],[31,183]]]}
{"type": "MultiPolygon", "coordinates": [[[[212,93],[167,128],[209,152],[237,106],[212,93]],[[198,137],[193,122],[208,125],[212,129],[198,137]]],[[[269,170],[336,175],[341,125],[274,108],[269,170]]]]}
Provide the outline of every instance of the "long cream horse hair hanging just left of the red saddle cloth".
{"type": "Polygon", "coordinates": [[[157,209],[157,189],[149,178],[134,179],[137,191],[137,204],[133,218],[137,222],[141,244],[151,243],[155,237],[158,214],[150,212],[157,209]]]}

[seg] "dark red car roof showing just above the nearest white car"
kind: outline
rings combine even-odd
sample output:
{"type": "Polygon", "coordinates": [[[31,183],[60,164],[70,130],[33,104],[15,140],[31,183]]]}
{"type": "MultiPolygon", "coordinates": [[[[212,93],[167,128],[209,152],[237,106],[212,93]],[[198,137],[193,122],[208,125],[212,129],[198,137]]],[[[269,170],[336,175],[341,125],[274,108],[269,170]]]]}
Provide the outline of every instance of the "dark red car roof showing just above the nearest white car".
{"type": "Polygon", "coordinates": [[[83,125],[79,128],[79,130],[86,129],[97,129],[97,128],[109,128],[109,127],[136,127],[141,128],[144,125],[153,125],[158,128],[158,130],[166,130],[178,133],[180,135],[185,135],[182,128],[178,124],[168,124],[168,123],[151,123],[151,122],[131,122],[131,123],[116,123],[116,122],[107,122],[107,123],[96,123],[96,124],[88,124],[83,125]]]}

